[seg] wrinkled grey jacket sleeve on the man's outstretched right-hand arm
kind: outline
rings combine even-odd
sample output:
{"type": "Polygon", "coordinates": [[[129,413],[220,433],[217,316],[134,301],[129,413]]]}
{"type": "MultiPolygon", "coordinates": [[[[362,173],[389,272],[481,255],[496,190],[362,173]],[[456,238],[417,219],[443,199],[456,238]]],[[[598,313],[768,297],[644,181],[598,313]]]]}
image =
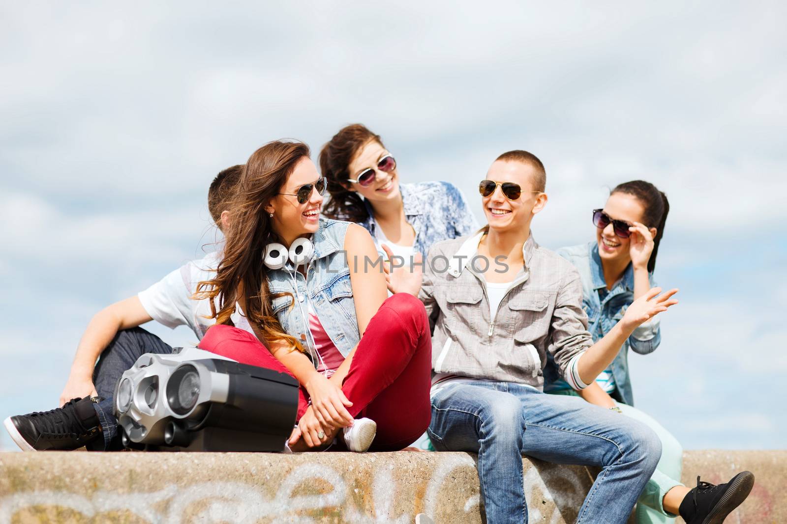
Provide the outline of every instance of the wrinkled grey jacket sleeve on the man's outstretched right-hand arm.
{"type": "Polygon", "coordinates": [[[582,309],[582,281],[577,270],[571,267],[557,294],[548,350],[560,376],[576,390],[588,387],[579,379],[577,371],[579,357],[593,345],[587,327],[588,318],[582,309]]]}

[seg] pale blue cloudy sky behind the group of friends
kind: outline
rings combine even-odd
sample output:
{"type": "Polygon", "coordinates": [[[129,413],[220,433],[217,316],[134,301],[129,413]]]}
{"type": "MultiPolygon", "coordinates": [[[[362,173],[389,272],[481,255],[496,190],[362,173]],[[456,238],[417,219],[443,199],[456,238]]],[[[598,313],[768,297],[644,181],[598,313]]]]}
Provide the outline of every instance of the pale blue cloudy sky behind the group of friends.
{"type": "Polygon", "coordinates": [[[0,418],[55,407],[91,316],[212,249],[219,170],[361,122],[405,181],[453,181],[479,218],[494,157],[534,152],[546,247],[591,240],[617,183],[658,185],[656,278],[682,302],[630,357],[637,406],[686,449],[787,447],[784,4],[477,8],[0,7],[0,418]]]}

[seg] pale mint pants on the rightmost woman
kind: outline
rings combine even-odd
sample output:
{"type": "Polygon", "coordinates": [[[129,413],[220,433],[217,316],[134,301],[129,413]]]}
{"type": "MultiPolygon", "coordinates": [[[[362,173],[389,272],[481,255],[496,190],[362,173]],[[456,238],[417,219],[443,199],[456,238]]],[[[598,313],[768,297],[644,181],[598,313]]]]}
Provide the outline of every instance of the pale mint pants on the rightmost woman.
{"type": "MultiPolygon", "coordinates": [[[[549,393],[579,397],[575,390],[556,390],[549,393]]],[[[681,478],[683,469],[683,447],[678,439],[674,438],[652,416],[620,402],[618,407],[624,415],[639,420],[655,431],[661,441],[659,465],[637,499],[636,522],[637,524],[672,524],[678,515],[673,515],[664,509],[663,499],[670,489],[675,486],[683,486],[679,480],[676,480],[681,478]]]]}

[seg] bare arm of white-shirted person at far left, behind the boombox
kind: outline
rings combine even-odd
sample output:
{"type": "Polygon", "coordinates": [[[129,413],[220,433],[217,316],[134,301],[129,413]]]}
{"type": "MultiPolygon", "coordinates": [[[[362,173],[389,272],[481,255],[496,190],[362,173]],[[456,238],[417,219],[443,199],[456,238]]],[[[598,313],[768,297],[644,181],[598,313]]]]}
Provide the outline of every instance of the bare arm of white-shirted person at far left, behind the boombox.
{"type": "Polygon", "coordinates": [[[68,382],[60,395],[60,405],[72,398],[95,396],[93,368],[98,355],[120,330],[136,328],[152,320],[137,296],[115,302],[96,313],[90,324],[87,324],[79,346],[76,346],[68,382]]]}

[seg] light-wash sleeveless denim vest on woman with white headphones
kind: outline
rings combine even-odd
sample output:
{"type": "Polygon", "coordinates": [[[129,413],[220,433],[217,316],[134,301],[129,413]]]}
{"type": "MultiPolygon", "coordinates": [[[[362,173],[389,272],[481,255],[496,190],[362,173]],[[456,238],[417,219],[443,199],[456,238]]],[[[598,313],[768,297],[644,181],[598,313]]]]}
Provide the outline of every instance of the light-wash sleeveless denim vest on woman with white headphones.
{"type": "MultiPolygon", "coordinates": [[[[325,332],[345,357],[360,341],[344,251],[345,234],[350,223],[320,218],[320,228],[312,235],[314,256],[306,269],[308,278],[300,272],[295,273],[297,293],[290,273],[285,269],[268,269],[268,291],[275,297],[272,299],[273,312],[283,331],[305,346],[311,303],[325,332]],[[292,295],[276,296],[279,293],[292,295]],[[300,305],[295,302],[298,297],[300,305]]],[[[289,262],[288,266],[292,268],[289,262]]]]}

